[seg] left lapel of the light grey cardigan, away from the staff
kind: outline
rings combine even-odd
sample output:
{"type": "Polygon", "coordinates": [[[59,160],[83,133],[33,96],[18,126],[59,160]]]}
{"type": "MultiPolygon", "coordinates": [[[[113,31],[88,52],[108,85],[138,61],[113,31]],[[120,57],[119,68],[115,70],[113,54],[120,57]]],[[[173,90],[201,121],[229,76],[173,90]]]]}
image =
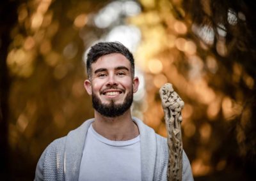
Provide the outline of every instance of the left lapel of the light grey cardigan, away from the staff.
{"type": "Polygon", "coordinates": [[[83,156],[84,142],[88,127],[93,119],[86,120],[81,126],[67,135],[64,154],[65,180],[78,180],[80,163],[83,156]]]}

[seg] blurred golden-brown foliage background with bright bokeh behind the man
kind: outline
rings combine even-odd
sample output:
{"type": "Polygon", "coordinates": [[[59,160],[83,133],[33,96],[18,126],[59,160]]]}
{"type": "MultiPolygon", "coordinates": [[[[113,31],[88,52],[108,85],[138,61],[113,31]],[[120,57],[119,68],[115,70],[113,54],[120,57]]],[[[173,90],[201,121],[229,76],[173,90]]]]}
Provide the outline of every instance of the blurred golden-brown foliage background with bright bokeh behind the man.
{"type": "Polygon", "coordinates": [[[83,82],[98,41],[132,51],[141,82],[132,115],[163,136],[158,91],[173,84],[195,180],[256,180],[255,4],[1,1],[1,180],[33,180],[45,147],[93,117],[83,82]]]}

